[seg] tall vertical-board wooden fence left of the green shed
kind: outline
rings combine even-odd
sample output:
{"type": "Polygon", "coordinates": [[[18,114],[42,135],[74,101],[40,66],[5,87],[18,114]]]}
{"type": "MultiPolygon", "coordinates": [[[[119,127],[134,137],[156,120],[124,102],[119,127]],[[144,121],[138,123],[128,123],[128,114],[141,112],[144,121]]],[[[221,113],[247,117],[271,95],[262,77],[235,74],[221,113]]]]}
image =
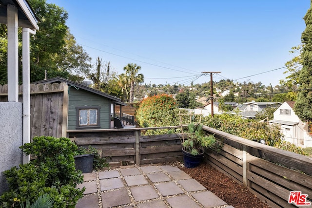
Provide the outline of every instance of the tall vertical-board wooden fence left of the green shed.
{"type": "MultiPolygon", "coordinates": [[[[66,136],[68,102],[64,102],[64,99],[68,99],[66,83],[30,85],[31,138],[41,135],[66,136]]],[[[0,102],[7,102],[7,85],[0,85],[0,102]]],[[[22,102],[22,85],[19,88],[19,102],[22,102]]]]}

